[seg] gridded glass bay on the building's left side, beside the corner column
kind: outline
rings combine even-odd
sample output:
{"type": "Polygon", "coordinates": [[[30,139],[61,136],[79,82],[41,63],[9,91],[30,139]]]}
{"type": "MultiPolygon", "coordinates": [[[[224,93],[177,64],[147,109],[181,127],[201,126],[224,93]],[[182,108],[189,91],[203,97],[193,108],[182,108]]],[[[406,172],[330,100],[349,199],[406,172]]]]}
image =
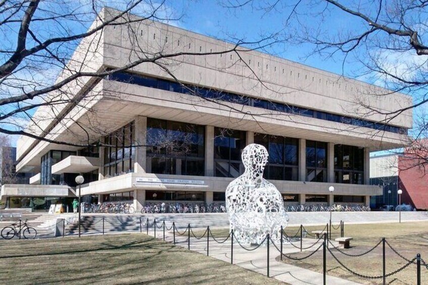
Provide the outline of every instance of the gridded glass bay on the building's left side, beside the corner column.
{"type": "Polygon", "coordinates": [[[104,177],[114,177],[134,171],[134,122],[104,138],[104,177]]]}

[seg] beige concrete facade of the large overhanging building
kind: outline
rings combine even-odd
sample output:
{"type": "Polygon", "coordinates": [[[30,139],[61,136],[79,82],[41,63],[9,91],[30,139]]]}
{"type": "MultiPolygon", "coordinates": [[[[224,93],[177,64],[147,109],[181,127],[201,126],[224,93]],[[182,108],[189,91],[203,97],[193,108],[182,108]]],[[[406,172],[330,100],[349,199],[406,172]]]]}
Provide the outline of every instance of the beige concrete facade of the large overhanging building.
{"type": "MultiPolygon", "coordinates": [[[[116,13],[115,10],[104,9],[100,15],[101,17],[111,17],[116,13]]],[[[130,17],[135,16],[130,15],[130,17]]],[[[369,102],[371,107],[381,108],[385,111],[394,110],[397,102],[400,103],[400,106],[411,104],[411,98],[404,94],[395,93],[389,95],[388,98],[379,96],[386,90],[258,51],[248,51],[243,48],[239,51],[241,55],[239,60],[234,52],[219,53],[231,48],[229,43],[166,24],[144,21],[130,26],[138,30],[137,34],[140,36],[130,38],[135,35],[123,32],[127,28],[125,26],[108,26],[102,34],[95,34],[91,38],[97,39],[94,41],[97,42],[96,45],[89,40],[82,42],[75,52],[75,62],[79,62],[82,52],[86,49],[91,54],[85,57],[87,69],[122,67],[135,60],[136,56],[141,53],[141,51],[135,51],[137,43],[147,53],[158,52],[159,48],[162,48],[163,52],[169,53],[213,52],[215,54],[173,56],[168,63],[174,66],[174,75],[180,82],[191,86],[244,95],[254,100],[265,99],[308,108],[323,114],[324,112],[337,116],[352,114],[355,120],[373,123],[385,120],[381,115],[373,112],[367,116],[361,115],[365,110],[361,106],[356,106],[356,98],[363,98],[364,101],[369,102]],[[246,64],[242,61],[245,61],[246,64]]],[[[154,64],[137,65],[129,72],[136,76],[172,80],[165,70],[154,64]]],[[[272,182],[284,194],[297,194],[298,203],[301,204],[306,203],[307,195],[328,195],[330,185],[335,187],[334,195],[363,196],[367,203],[367,197],[382,192],[378,186],[368,185],[369,152],[400,147],[407,138],[405,133],[351,126],[346,123],[320,119],[321,117],[302,116],[299,113],[285,113],[253,105],[240,105],[235,102],[205,100],[192,94],[162,90],[132,84],[132,82],[120,82],[108,78],[85,80],[87,80],[84,82],[85,84],[74,86],[75,95],[73,96],[77,98],[79,94],[92,94],[92,97],[90,100],[86,97],[81,99],[84,101],[84,107],[64,106],[59,112],[65,113],[64,119],[62,119],[65,122],[59,124],[56,121],[59,117],[58,113],[53,113],[55,116],[50,120],[46,119],[49,112],[42,107],[34,115],[34,120],[44,119],[43,126],[45,126],[45,130],[49,130],[46,133],[50,139],[67,140],[73,143],[82,142],[76,134],[82,133],[79,126],[85,125],[85,123],[89,125],[88,121],[101,122],[97,127],[98,129],[103,128],[102,134],[96,132],[94,128],[86,129],[85,139],[89,135],[92,141],[97,141],[105,134],[134,122],[135,130],[132,140],[136,147],[133,148],[133,173],[105,177],[103,170],[105,147],[100,147],[99,160],[92,165],[94,169],[98,169],[98,181],[84,184],[82,194],[106,195],[131,191],[137,210],[145,203],[147,191],[204,192],[206,203],[213,202],[215,192],[225,191],[232,178],[216,177],[214,143],[216,127],[245,131],[247,144],[254,142],[255,133],[298,139],[298,181],[274,180],[272,182]],[[93,82],[93,84],[89,85],[88,82],[93,82]],[[73,118],[73,120],[67,120],[68,118],[73,118]],[[204,176],[152,173],[150,163],[147,163],[147,118],[204,126],[204,176]],[[328,143],[327,180],[325,182],[306,181],[307,140],[328,143]],[[335,144],[364,148],[363,184],[335,183],[335,144]]],[[[394,117],[388,124],[403,130],[411,128],[411,110],[394,117]]],[[[17,169],[21,172],[34,172],[34,170],[39,172],[41,156],[58,147],[55,144],[21,137],[18,141],[19,163],[17,169]]],[[[78,147],[72,146],[61,146],[61,148],[79,150],[78,147]]],[[[65,165],[67,162],[61,161],[57,164],[65,165]]],[[[69,167],[71,166],[69,165],[69,167]]],[[[52,170],[56,170],[56,172],[57,168],[59,166],[56,166],[55,169],[52,166],[52,170]]],[[[81,169],[82,173],[86,172],[84,167],[81,169]]]]}

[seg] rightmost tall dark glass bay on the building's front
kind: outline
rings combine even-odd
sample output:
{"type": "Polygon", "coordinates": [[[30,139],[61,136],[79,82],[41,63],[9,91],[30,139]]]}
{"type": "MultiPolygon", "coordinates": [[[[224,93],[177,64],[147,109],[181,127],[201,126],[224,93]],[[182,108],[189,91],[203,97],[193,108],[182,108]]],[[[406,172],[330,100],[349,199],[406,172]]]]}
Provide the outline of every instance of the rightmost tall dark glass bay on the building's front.
{"type": "Polygon", "coordinates": [[[335,182],[364,184],[364,148],[350,145],[335,145],[335,182]]]}

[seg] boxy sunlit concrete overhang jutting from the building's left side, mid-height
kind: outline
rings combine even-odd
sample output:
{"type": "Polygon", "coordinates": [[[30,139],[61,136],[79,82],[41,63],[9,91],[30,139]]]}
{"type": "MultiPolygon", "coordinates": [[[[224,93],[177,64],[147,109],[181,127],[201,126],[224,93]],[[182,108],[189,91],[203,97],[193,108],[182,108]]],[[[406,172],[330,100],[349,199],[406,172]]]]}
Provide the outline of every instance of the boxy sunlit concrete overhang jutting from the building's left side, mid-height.
{"type": "Polygon", "coordinates": [[[52,174],[63,173],[87,173],[98,169],[98,157],[86,157],[70,155],[58,163],[52,165],[52,174]]]}

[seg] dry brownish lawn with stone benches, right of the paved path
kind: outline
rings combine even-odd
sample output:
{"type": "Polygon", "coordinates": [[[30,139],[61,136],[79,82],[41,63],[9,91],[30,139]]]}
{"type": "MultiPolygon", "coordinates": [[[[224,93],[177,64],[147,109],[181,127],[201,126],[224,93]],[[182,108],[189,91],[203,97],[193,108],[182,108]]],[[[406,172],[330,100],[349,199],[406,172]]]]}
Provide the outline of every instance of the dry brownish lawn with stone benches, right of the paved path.
{"type": "MultiPolygon", "coordinates": [[[[289,236],[295,235],[299,227],[287,227],[285,232],[289,236]]],[[[315,230],[323,230],[323,226],[307,226],[306,230],[310,233],[315,230]]],[[[196,233],[195,233],[196,234],[196,233]]],[[[198,232],[198,234],[201,234],[198,232]]],[[[229,234],[228,229],[212,230],[215,237],[225,237],[229,234]]],[[[298,235],[300,236],[300,234],[298,235]]],[[[332,232],[332,239],[339,237],[340,231],[332,232]]],[[[364,253],[376,245],[382,237],[407,259],[412,259],[417,253],[421,254],[422,259],[428,262],[428,222],[403,222],[403,223],[377,223],[377,224],[345,224],[345,236],[352,237],[350,249],[343,250],[350,254],[364,253]]],[[[308,237],[310,239],[314,238],[308,237]]],[[[296,245],[299,242],[296,240],[296,245]]],[[[362,257],[348,257],[336,250],[333,254],[348,268],[364,275],[382,275],[382,245],[362,257]]],[[[407,262],[396,255],[386,246],[386,273],[390,273],[407,262]]],[[[293,254],[293,257],[303,257],[308,253],[293,254]]],[[[323,252],[319,250],[310,258],[303,261],[293,261],[284,259],[284,262],[304,267],[313,271],[323,272],[323,252]]],[[[346,271],[334,258],[327,252],[327,270],[329,275],[338,276],[344,279],[353,280],[364,284],[382,284],[382,279],[364,279],[352,275],[346,271]]],[[[428,284],[428,269],[421,267],[421,284],[428,284]]],[[[388,277],[389,284],[416,284],[416,265],[410,265],[403,271],[388,277]]]]}

